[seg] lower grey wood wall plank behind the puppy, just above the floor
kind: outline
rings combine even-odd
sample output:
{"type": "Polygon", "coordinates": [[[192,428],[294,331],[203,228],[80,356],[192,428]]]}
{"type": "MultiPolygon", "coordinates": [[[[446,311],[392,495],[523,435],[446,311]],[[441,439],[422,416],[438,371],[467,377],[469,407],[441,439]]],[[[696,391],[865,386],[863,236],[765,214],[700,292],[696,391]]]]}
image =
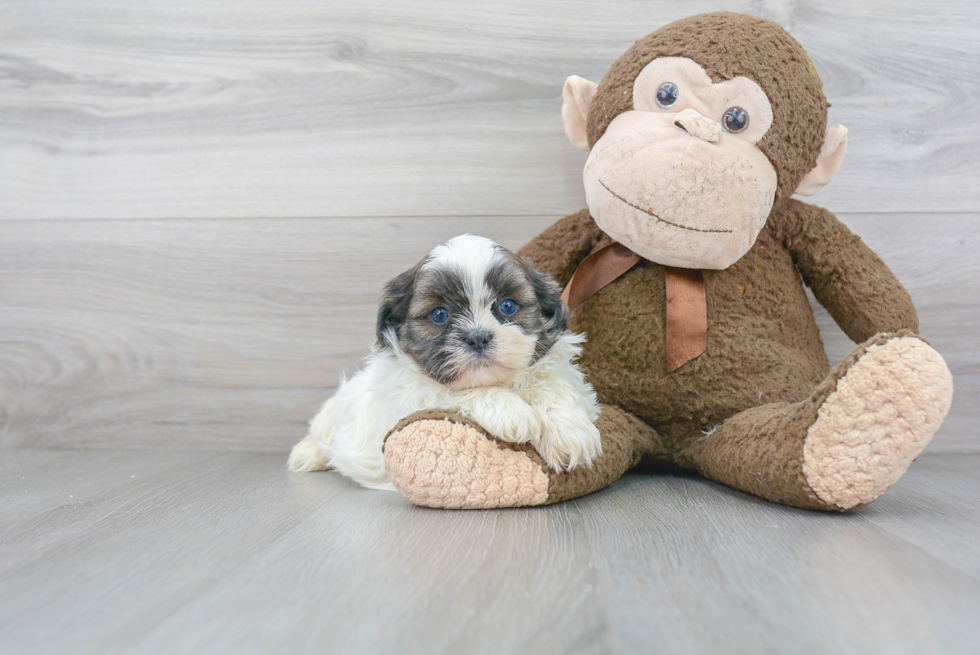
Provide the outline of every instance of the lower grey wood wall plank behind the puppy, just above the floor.
{"type": "MultiPolygon", "coordinates": [[[[954,373],[930,448],[980,451],[980,216],[842,218],[954,373]]],[[[516,248],[552,220],[2,221],[0,445],[287,448],[367,354],[384,281],[454,234],[516,248]]]]}

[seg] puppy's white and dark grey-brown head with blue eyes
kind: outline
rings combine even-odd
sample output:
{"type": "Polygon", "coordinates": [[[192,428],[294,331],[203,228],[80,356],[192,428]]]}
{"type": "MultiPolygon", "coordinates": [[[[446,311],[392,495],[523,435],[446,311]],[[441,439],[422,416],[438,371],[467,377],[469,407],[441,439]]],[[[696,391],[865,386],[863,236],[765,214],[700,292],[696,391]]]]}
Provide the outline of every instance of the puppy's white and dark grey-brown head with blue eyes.
{"type": "Polygon", "coordinates": [[[506,384],[567,329],[550,278],[489,239],[462,235],[389,282],[378,342],[456,389],[506,384]]]}

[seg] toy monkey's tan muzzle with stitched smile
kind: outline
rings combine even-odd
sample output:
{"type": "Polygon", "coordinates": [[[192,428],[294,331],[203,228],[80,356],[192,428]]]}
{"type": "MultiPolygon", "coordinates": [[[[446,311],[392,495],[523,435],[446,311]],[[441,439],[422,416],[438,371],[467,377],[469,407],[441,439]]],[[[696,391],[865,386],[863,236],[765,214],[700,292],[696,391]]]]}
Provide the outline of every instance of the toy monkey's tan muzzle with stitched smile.
{"type": "Polygon", "coordinates": [[[723,269],[765,225],[776,173],[754,143],[694,110],[629,111],[592,147],[584,171],[592,217],[650,261],[723,269]]]}

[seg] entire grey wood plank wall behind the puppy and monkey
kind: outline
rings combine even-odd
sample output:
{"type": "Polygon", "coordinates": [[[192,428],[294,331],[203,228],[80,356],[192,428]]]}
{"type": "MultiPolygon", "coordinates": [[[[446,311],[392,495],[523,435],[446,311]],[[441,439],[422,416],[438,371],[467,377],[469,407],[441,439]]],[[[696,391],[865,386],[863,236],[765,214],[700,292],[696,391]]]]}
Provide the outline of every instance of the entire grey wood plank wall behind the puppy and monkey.
{"type": "Polygon", "coordinates": [[[975,0],[4,0],[0,446],[287,447],[366,354],[386,279],[584,206],[564,78],[719,9],[809,50],[851,130],[814,202],[949,361],[930,448],[980,452],[975,0]]]}

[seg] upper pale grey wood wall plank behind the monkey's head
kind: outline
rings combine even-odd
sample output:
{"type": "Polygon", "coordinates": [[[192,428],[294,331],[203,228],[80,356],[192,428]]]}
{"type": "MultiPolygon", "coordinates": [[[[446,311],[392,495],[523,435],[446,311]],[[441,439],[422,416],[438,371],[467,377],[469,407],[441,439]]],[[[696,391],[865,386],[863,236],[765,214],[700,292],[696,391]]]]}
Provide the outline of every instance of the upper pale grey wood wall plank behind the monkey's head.
{"type": "Polygon", "coordinates": [[[8,0],[0,219],[568,213],[565,77],[719,9],[809,49],[851,130],[823,204],[980,210],[975,0],[8,0]]]}

